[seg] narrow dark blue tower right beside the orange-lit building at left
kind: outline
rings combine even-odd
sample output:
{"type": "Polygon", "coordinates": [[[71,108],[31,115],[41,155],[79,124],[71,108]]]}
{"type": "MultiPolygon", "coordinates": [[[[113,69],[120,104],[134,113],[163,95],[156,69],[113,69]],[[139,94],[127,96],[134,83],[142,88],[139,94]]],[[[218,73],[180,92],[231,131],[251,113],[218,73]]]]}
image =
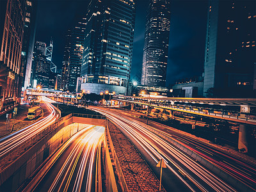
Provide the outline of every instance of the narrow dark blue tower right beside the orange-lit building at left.
{"type": "Polygon", "coordinates": [[[26,13],[25,13],[25,26],[24,37],[22,44],[22,74],[23,82],[22,87],[26,89],[30,86],[31,68],[33,60],[33,50],[35,45],[35,32],[36,32],[36,0],[26,1],[26,13]]]}

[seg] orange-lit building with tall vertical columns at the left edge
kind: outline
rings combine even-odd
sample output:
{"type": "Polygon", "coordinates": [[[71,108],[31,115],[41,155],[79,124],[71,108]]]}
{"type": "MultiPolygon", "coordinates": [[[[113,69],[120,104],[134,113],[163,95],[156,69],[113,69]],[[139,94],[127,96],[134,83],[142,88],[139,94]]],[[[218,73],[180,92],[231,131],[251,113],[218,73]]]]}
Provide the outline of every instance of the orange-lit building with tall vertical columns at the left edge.
{"type": "Polygon", "coordinates": [[[0,1],[0,111],[20,102],[25,8],[25,0],[0,1]]]}

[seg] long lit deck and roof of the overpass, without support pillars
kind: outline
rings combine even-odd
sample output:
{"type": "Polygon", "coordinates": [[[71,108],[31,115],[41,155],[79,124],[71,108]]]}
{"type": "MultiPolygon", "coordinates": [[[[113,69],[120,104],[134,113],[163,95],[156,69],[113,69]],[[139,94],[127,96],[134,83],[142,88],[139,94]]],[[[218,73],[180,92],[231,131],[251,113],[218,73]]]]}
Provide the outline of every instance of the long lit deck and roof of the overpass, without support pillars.
{"type": "Polygon", "coordinates": [[[238,106],[249,110],[256,108],[256,99],[209,99],[209,98],[154,98],[154,97],[130,97],[130,96],[114,96],[113,100],[120,102],[128,102],[131,104],[140,104],[144,106],[151,106],[153,108],[168,109],[172,111],[180,111],[193,115],[206,116],[209,118],[216,118],[219,120],[227,120],[239,124],[256,125],[256,116],[246,116],[246,113],[231,113],[230,111],[223,111],[218,109],[202,109],[200,108],[181,108],[179,103],[185,104],[207,104],[209,108],[214,105],[219,106],[238,106]]]}

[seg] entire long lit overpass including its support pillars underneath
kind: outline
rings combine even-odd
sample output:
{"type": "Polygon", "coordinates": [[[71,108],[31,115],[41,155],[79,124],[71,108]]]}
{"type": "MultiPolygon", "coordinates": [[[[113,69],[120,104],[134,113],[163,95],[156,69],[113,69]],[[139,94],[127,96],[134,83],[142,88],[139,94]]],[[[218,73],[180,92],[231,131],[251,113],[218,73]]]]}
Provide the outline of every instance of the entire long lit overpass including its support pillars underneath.
{"type": "MultiPolygon", "coordinates": [[[[177,98],[177,97],[131,97],[114,95],[113,100],[126,105],[135,104],[170,110],[173,118],[175,111],[191,115],[205,116],[216,120],[225,120],[239,124],[239,150],[248,152],[246,134],[256,125],[256,115],[250,113],[256,109],[256,99],[233,98],[177,98]]],[[[148,109],[148,107],[147,107],[148,109]]],[[[148,111],[147,111],[148,113],[148,111]]]]}

